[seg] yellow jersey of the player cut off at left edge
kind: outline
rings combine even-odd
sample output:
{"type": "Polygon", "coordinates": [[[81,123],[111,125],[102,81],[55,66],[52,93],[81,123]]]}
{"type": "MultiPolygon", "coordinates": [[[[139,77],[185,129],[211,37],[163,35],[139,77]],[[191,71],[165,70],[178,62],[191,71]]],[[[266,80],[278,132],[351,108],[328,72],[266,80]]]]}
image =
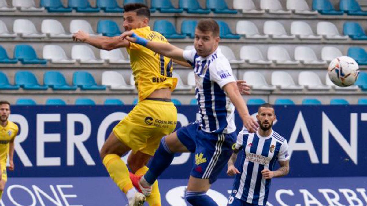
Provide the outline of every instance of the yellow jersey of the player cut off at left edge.
{"type": "Polygon", "coordinates": [[[8,121],[8,124],[3,127],[0,125],[0,163],[6,163],[9,154],[9,142],[18,134],[18,125],[8,121]]]}

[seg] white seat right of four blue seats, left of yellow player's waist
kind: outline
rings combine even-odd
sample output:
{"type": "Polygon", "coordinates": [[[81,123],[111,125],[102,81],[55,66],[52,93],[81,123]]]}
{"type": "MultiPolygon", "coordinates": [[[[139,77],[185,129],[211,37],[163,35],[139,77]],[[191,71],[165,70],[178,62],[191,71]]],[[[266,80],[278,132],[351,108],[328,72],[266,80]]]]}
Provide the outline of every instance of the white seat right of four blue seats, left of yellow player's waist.
{"type": "Polygon", "coordinates": [[[134,90],[134,86],[127,85],[124,77],[117,71],[103,71],[102,85],[110,87],[111,90],[134,90]]]}

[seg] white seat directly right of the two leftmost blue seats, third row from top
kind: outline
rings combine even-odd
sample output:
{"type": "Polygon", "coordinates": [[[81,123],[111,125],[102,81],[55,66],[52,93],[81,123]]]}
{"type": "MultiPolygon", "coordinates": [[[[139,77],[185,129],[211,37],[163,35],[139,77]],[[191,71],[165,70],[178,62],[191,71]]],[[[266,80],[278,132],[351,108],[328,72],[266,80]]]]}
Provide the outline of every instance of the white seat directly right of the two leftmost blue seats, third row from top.
{"type": "Polygon", "coordinates": [[[64,49],[59,45],[45,45],[43,47],[42,56],[44,59],[48,59],[51,63],[56,64],[73,64],[76,62],[75,59],[68,58],[64,49]]]}

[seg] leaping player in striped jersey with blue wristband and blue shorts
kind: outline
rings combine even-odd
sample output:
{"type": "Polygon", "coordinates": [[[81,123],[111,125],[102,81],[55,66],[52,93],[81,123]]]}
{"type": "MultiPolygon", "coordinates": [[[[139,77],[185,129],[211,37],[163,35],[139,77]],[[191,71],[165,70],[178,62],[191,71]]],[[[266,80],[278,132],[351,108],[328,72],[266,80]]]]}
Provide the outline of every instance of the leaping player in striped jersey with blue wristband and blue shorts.
{"type": "Polygon", "coordinates": [[[196,131],[195,139],[180,141],[175,136],[162,139],[150,169],[135,186],[149,196],[152,183],[170,165],[174,152],[189,152],[192,150],[189,147],[194,145],[196,158],[190,173],[186,200],[194,206],[217,205],[206,195],[206,192],[217,180],[219,172],[232,154],[232,145],[236,140],[235,107],[246,128],[255,132],[258,126],[248,113],[228,59],[218,48],[217,22],[213,19],[203,19],[198,22],[195,30],[195,49],[192,50],[184,51],[169,43],[148,41],[134,32],[123,33],[121,39],[127,39],[164,56],[190,63],[195,73],[195,93],[201,116],[201,129],[196,131]]]}

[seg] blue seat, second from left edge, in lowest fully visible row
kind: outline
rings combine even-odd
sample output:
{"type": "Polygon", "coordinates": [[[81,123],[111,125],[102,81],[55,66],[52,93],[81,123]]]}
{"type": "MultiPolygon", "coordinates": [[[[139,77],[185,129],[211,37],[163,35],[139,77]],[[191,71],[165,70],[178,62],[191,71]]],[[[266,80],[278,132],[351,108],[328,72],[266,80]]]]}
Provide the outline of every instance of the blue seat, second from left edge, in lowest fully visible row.
{"type": "Polygon", "coordinates": [[[17,71],[15,73],[15,84],[19,85],[23,89],[30,90],[47,90],[48,87],[46,85],[38,84],[36,76],[29,71],[17,71]]]}

